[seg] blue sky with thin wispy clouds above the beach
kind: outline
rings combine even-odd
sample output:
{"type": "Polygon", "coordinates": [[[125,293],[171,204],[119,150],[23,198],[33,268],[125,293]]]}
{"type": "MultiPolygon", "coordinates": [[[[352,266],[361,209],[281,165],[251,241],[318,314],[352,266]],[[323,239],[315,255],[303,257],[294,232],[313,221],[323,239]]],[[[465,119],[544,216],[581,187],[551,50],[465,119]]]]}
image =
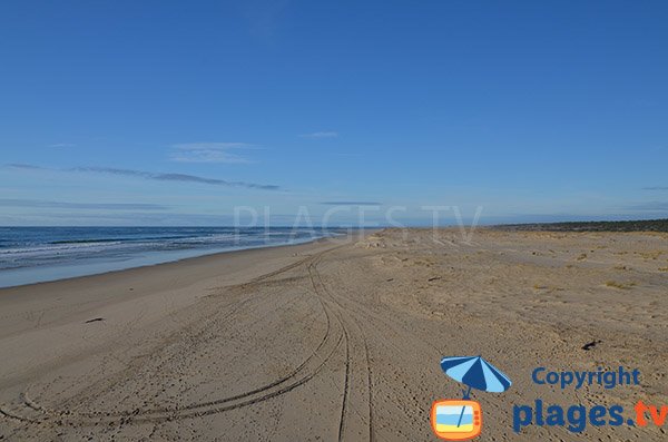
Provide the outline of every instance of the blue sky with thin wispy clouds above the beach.
{"type": "Polygon", "coordinates": [[[667,217],[667,22],[665,1],[6,0],[0,225],[667,217]]]}

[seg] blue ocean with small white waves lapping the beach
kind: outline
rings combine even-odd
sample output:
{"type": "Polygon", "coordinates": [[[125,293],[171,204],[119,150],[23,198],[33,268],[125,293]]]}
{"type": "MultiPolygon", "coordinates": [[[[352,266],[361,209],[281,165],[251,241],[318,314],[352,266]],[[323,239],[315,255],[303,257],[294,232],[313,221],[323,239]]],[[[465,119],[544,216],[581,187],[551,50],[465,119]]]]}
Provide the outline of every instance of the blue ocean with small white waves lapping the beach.
{"type": "Polygon", "coordinates": [[[336,236],[335,229],[0,227],[0,287],[336,236]]]}

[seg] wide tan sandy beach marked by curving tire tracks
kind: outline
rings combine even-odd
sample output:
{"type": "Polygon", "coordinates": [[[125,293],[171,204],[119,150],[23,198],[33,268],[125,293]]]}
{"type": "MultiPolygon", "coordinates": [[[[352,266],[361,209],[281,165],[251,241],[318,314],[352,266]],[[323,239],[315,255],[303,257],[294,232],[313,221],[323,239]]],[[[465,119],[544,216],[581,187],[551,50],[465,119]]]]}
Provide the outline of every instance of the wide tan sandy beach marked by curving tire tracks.
{"type": "Polygon", "coordinates": [[[480,440],[665,440],[511,423],[537,397],[668,404],[667,239],[384,230],[1,289],[0,440],[435,440],[461,394],[439,361],[478,354],[513,380],[474,393],[480,440]],[[531,382],[619,365],[641,385],[531,382]]]}

